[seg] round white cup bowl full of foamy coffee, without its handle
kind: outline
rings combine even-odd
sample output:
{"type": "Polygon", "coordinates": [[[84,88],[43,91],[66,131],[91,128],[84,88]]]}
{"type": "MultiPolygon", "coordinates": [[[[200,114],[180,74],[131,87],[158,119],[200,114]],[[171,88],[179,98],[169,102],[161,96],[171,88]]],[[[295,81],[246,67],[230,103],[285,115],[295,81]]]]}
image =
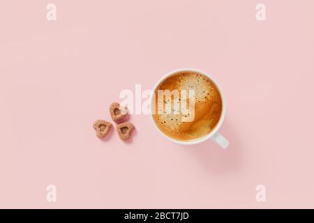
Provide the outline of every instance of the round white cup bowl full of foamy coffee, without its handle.
{"type": "Polygon", "coordinates": [[[211,138],[225,116],[222,92],[200,70],[168,73],[154,86],[150,101],[158,132],[179,144],[198,144],[211,138]]]}

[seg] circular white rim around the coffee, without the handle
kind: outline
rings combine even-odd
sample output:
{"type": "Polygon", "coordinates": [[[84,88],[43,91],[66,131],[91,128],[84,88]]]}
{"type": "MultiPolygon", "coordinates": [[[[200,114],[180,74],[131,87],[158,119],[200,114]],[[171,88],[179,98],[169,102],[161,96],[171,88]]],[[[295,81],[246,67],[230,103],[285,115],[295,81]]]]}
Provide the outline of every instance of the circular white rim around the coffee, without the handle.
{"type": "MultiPolygon", "coordinates": [[[[225,97],[223,95],[223,91],[222,89],[220,88],[220,86],[218,85],[218,83],[216,82],[215,79],[213,79],[213,77],[211,77],[211,75],[209,75],[207,72],[204,72],[202,70],[197,70],[195,68],[181,68],[181,69],[177,69],[177,70],[172,70],[171,72],[168,72],[166,75],[164,75],[163,77],[161,77],[159,79],[159,81],[155,84],[154,86],[154,89],[151,91],[151,95],[150,95],[150,98],[149,98],[149,102],[150,102],[150,105],[153,101],[153,97],[154,97],[154,93],[156,91],[156,88],[159,86],[159,84],[161,82],[163,82],[165,79],[167,79],[168,77],[176,74],[177,72],[184,72],[184,71],[191,71],[191,72],[199,72],[201,73],[202,75],[205,75],[207,77],[209,77],[209,79],[211,79],[212,82],[214,82],[214,84],[216,84],[217,86],[217,89],[220,93],[220,97],[221,97],[221,101],[222,101],[222,104],[223,104],[223,109],[222,109],[222,112],[221,112],[221,115],[220,115],[220,118],[219,118],[219,121],[217,123],[217,125],[215,126],[214,130],[211,130],[211,132],[209,132],[209,134],[205,135],[204,137],[200,137],[200,139],[195,139],[195,140],[190,140],[190,141],[180,141],[180,140],[177,140],[177,139],[172,139],[171,137],[168,137],[167,134],[163,133],[159,128],[158,126],[156,125],[155,121],[154,121],[154,118],[153,118],[153,114],[150,114],[151,116],[151,121],[154,123],[155,127],[157,128],[158,132],[160,134],[162,134],[164,137],[166,137],[167,139],[169,139],[170,141],[174,142],[174,143],[177,143],[177,144],[181,144],[181,145],[194,145],[194,144],[200,144],[202,143],[203,141],[206,141],[207,139],[210,139],[211,137],[214,136],[214,134],[216,134],[218,132],[218,130],[220,129],[221,125],[223,124],[223,121],[225,119],[225,97]]],[[[151,106],[150,106],[150,111],[151,111],[151,106]]]]}

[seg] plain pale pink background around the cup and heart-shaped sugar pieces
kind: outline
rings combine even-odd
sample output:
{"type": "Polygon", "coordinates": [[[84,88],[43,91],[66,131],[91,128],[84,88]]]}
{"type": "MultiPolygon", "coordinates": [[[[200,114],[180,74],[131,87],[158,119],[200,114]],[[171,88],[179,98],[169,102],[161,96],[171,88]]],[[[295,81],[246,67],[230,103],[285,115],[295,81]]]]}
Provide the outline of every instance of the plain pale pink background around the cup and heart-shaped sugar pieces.
{"type": "Polygon", "coordinates": [[[314,208],[313,0],[51,2],[56,22],[50,1],[0,3],[0,208],[314,208]],[[145,115],[129,143],[96,138],[121,90],[186,67],[223,88],[227,150],[145,115]]]}

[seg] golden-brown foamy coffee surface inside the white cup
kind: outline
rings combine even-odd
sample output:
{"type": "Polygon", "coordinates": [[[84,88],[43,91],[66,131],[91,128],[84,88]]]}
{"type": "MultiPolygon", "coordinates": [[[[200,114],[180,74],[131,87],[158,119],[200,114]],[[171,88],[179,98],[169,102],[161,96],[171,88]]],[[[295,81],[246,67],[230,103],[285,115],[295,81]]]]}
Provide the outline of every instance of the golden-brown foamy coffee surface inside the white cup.
{"type": "MultiPolygon", "coordinates": [[[[155,91],[156,97],[158,90],[194,90],[195,92],[193,121],[182,121],[182,117],[186,114],[181,112],[179,114],[165,114],[165,112],[158,114],[157,111],[152,111],[156,125],[168,137],[179,141],[196,140],[209,134],[217,125],[222,112],[222,100],[216,84],[207,76],[199,72],[178,72],[159,84],[155,91]]],[[[169,103],[165,100],[161,102],[163,105],[169,103]]],[[[155,109],[160,108],[160,101],[158,102],[157,98],[155,103],[155,109]]],[[[173,98],[171,105],[172,107],[174,105],[173,98]]]]}

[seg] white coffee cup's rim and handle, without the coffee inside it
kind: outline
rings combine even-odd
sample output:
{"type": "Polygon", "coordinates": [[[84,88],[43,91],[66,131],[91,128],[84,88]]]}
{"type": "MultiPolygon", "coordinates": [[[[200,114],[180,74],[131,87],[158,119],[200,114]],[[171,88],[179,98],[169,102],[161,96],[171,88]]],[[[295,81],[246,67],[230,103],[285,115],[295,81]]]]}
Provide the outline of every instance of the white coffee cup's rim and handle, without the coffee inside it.
{"type": "Polygon", "coordinates": [[[195,139],[195,140],[189,140],[189,141],[180,141],[177,139],[172,139],[171,137],[168,137],[165,133],[163,133],[158,126],[156,125],[154,118],[153,118],[153,114],[151,114],[151,121],[153,121],[154,125],[156,126],[156,128],[158,129],[158,132],[160,132],[160,134],[162,134],[164,137],[166,137],[167,139],[169,139],[170,141],[173,141],[177,144],[182,144],[182,145],[194,145],[194,144],[200,144],[203,141],[206,141],[207,139],[212,139],[213,141],[216,142],[216,144],[218,144],[219,146],[221,146],[222,148],[227,148],[227,146],[229,145],[229,141],[227,141],[227,139],[225,139],[225,137],[223,137],[221,134],[218,133],[219,128],[221,127],[221,125],[223,124],[223,120],[225,118],[225,98],[223,96],[223,91],[221,91],[219,85],[217,84],[217,82],[209,75],[207,74],[207,72],[201,71],[201,70],[196,70],[193,68],[184,68],[184,69],[179,69],[179,70],[173,70],[172,72],[168,72],[167,75],[161,77],[161,79],[155,84],[153,91],[151,91],[151,97],[150,97],[150,102],[151,105],[152,103],[155,101],[155,91],[156,88],[159,86],[159,84],[161,82],[163,82],[165,79],[167,79],[168,77],[171,77],[172,75],[177,74],[178,72],[184,72],[184,71],[191,71],[191,72],[198,72],[202,75],[207,76],[209,79],[211,79],[211,81],[214,82],[214,84],[216,84],[219,92],[220,92],[220,96],[221,96],[221,100],[222,100],[222,105],[223,105],[223,109],[220,115],[220,119],[218,121],[218,123],[216,124],[216,126],[214,127],[213,130],[211,130],[211,132],[209,132],[209,134],[205,135],[204,137],[201,137],[200,139],[195,139]]]}

